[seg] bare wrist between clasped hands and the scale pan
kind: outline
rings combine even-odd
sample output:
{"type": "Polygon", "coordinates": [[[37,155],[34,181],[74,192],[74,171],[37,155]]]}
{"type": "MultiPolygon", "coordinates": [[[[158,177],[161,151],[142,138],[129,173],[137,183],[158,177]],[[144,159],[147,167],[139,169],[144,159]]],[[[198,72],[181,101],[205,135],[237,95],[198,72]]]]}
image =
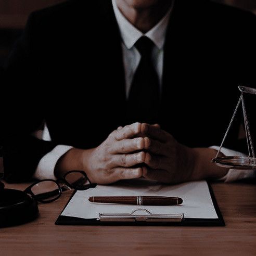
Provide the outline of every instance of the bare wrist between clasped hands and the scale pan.
{"type": "MultiPolygon", "coordinates": [[[[195,157],[194,168],[191,180],[203,180],[207,178],[224,177],[228,169],[217,166],[212,163],[212,159],[216,156],[216,150],[212,148],[193,148],[195,157]]],[[[224,156],[220,153],[221,156],[224,156]]]]}

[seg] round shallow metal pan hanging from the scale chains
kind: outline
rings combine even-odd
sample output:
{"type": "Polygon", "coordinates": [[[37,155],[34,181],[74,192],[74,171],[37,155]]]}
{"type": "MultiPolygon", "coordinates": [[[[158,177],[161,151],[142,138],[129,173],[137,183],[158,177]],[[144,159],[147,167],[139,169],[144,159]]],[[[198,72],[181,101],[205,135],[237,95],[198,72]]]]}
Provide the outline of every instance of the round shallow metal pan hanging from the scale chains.
{"type": "Polygon", "coordinates": [[[217,157],[212,159],[212,162],[231,169],[256,169],[256,158],[253,157],[217,157]]]}

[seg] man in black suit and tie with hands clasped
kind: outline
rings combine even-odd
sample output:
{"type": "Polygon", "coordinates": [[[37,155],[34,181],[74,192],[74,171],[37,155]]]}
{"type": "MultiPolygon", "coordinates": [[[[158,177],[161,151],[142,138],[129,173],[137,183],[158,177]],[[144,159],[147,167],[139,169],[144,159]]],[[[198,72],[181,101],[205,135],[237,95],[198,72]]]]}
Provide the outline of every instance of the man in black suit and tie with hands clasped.
{"type": "MultiPolygon", "coordinates": [[[[16,106],[8,124],[19,129],[5,139],[6,179],[70,170],[99,184],[223,177],[211,146],[237,85],[255,86],[255,24],[200,0],[70,1],[34,12],[6,65],[16,106]],[[43,122],[50,142],[34,136],[43,122]]],[[[228,148],[237,149],[240,123],[228,148]]]]}

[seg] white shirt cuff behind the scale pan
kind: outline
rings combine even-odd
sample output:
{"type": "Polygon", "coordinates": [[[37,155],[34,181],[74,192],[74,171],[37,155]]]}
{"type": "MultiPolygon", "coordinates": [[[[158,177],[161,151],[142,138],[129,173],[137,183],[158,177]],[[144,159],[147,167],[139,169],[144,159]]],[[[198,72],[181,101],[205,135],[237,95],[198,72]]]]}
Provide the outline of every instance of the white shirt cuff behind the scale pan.
{"type": "MultiPolygon", "coordinates": [[[[218,146],[212,146],[210,147],[215,150],[219,150],[220,147],[218,146]]],[[[244,153],[228,149],[228,148],[221,148],[221,151],[224,156],[239,156],[239,157],[246,157],[244,153]]],[[[254,178],[256,177],[256,171],[255,170],[237,170],[237,169],[229,169],[227,174],[220,178],[219,181],[224,182],[234,182],[237,180],[241,180],[242,178],[254,178]]]]}

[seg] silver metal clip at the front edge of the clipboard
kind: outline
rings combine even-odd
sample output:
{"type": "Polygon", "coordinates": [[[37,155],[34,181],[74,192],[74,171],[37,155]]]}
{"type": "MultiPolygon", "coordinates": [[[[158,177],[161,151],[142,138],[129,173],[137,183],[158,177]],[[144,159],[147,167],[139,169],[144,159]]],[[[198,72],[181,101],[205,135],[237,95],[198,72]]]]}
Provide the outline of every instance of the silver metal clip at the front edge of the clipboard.
{"type": "Polygon", "coordinates": [[[103,222],[181,222],[184,213],[180,214],[153,214],[147,209],[136,209],[131,213],[99,213],[99,221],[103,222]],[[136,214],[143,211],[144,214],[136,214]]]}

